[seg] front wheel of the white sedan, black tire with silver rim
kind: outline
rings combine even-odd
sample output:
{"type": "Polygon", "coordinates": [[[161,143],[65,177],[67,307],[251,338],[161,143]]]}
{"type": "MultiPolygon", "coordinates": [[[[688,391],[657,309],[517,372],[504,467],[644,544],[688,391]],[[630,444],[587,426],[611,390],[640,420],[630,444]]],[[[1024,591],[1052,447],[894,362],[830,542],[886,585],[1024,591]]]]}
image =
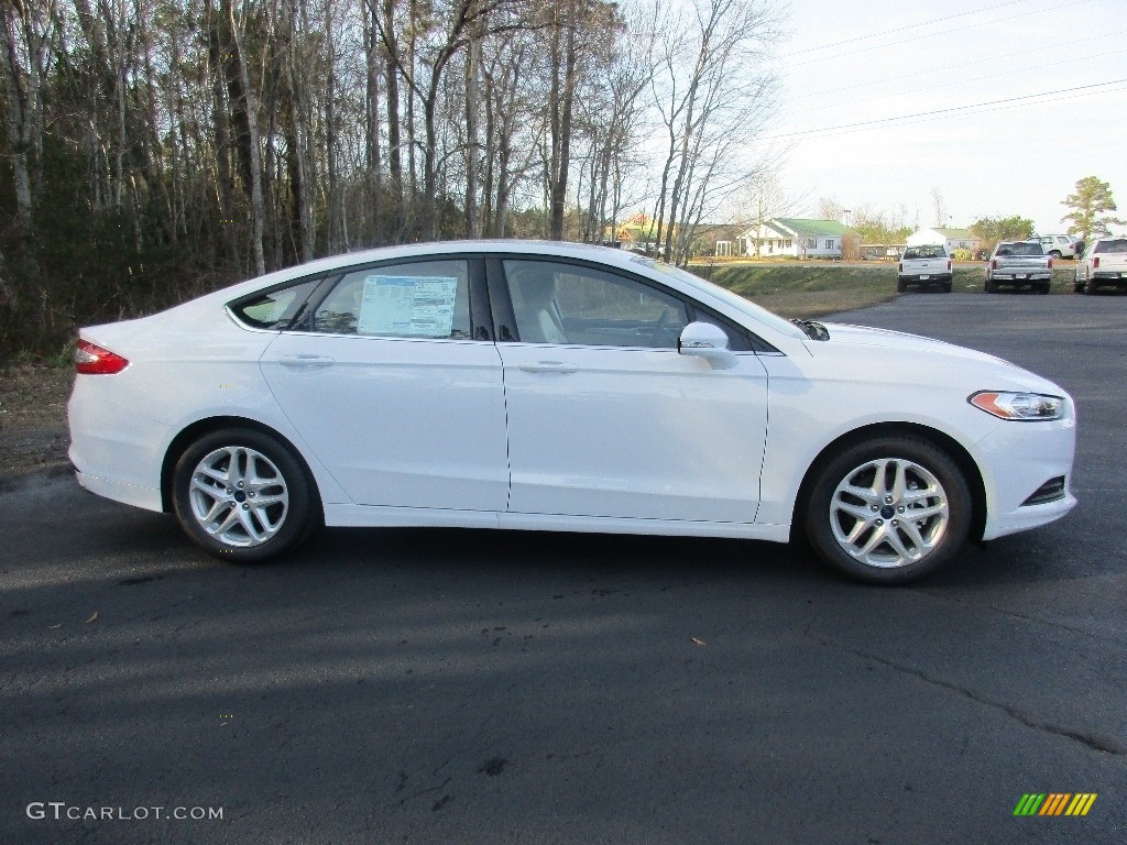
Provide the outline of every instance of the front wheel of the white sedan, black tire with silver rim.
{"type": "Polygon", "coordinates": [[[875,436],[854,443],[816,472],[804,514],[806,537],[823,561],[855,580],[885,585],[919,580],[948,563],[970,531],[967,480],[950,455],[929,441],[875,436]],[[881,465],[882,479],[878,478],[881,465]],[[914,504],[893,498],[896,478],[902,478],[906,497],[919,497],[928,489],[933,493],[914,504]],[[854,486],[871,482],[875,500],[866,502],[849,491],[838,492],[840,486],[851,480],[854,486]],[[873,512],[878,505],[880,509],[873,512]],[[942,506],[946,510],[905,521],[904,514],[913,508],[942,506]],[[866,519],[854,517],[848,508],[863,512],[866,519]],[[850,542],[854,531],[859,533],[850,542]],[[863,546],[869,543],[875,545],[866,552],[863,546]]]}

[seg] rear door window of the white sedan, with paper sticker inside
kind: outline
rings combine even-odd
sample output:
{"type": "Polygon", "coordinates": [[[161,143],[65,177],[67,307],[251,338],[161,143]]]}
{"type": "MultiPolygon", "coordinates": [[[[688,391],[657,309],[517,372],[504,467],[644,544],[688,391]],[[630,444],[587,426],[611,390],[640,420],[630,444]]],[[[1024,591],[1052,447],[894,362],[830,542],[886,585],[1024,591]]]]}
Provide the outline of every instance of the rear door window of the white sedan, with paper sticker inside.
{"type": "Polygon", "coordinates": [[[468,339],[464,259],[415,261],[348,273],[317,306],[312,330],[327,335],[468,339]]]}

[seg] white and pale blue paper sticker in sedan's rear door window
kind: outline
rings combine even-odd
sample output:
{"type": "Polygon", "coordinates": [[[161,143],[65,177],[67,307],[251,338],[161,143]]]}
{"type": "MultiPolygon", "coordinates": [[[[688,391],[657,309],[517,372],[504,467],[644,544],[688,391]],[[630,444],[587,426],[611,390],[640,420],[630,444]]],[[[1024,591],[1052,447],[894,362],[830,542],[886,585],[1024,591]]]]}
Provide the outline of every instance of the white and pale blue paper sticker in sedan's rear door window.
{"type": "Polygon", "coordinates": [[[365,276],[361,335],[450,337],[454,328],[454,276],[365,276]]]}

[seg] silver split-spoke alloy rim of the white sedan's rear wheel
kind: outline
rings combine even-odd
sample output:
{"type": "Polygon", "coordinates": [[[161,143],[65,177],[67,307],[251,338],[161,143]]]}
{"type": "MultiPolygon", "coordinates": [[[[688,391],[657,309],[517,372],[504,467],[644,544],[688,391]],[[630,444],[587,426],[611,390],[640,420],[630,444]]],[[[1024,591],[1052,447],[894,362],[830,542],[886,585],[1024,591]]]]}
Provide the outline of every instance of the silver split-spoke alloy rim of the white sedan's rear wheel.
{"type": "Polygon", "coordinates": [[[268,542],[290,512],[282,471],[248,446],[223,446],[205,455],[192,472],[188,499],[199,527],[240,549],[268,542]]]}

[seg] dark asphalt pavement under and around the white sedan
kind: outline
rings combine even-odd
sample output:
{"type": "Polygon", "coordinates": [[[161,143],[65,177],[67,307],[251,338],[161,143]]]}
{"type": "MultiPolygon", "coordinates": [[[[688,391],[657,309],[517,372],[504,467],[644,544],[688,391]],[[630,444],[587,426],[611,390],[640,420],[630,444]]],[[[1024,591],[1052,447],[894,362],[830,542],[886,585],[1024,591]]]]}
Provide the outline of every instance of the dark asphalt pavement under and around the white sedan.
{"type": "Polygon", "coordinates": [[[0,843],[1122,843],[1127,297],[836,319],[1058,381],[1079,507],[888,589],[487,531],[239,568],[35,478],[0,493],[0,843]],[[1033,793],[1097,798],[1014,816],[1033,793]]]}

